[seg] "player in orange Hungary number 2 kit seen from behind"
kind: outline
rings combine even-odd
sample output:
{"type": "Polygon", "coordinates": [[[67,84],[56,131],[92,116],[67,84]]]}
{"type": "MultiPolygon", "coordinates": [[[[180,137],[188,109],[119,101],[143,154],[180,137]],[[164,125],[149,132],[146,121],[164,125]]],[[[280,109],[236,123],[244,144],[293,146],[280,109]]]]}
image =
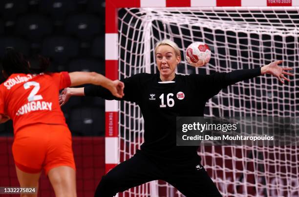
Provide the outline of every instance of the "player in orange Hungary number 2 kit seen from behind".
{"type": "Polygon", "coordinates": [[[60,109],[59,90],[92,83],[122,98],[124,84],[93,72],[43,73],[49,61],[39,58],[40,69],[32,69],[20,52],[12,48],[6,51],[2,59],[6,81],[0,84],[0,122],[13,120],[12,149],[21,187],[38,188],[44,169],[56,197],[76,197],[71,133],[60,109]]]}

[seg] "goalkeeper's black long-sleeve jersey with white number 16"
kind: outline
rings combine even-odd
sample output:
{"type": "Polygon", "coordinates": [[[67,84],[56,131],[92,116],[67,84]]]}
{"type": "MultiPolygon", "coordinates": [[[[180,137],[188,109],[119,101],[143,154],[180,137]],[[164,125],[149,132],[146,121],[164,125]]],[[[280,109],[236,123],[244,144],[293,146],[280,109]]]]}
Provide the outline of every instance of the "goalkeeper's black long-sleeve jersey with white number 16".
{"type": "Polygon", "coordinates": [[[149,156],[181,160],[196,155],[198,147],[176,146],[176,117],[204,115],[205,103],[222,88],[261,75],[260,68],[212,75],[175,75],[161,81],[159,73],[141,73],[123,79],[123,98],[114,97],[102,86],[85,87],[85,96],[136,102],[144,118],[141,151],[149,156]]]}

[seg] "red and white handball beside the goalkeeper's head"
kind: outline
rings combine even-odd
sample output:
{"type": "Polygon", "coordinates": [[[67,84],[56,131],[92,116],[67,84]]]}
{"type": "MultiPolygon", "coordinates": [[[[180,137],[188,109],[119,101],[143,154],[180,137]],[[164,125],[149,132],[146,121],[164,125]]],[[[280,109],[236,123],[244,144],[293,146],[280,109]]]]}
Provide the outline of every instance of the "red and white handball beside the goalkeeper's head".
{"type": "Polygon", "coordinates": [[[193,42],[187,47],[186,59],[194,67],[203,66],[210,61],[211,50],[203,42],[193,42]]]}

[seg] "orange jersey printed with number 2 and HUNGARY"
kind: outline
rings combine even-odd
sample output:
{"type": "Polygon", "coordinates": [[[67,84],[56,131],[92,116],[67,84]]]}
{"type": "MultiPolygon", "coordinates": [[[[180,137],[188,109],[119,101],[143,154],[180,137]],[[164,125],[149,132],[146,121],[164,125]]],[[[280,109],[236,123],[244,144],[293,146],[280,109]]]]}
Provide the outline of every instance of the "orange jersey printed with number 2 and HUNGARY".
{"type": "Polygon", "coordinates": [[[0,85],[0,114],[13,120],[15,134],[34,123],[66,125],[58,97],[70,83],[67,72],[12,74],[0,85]]]}

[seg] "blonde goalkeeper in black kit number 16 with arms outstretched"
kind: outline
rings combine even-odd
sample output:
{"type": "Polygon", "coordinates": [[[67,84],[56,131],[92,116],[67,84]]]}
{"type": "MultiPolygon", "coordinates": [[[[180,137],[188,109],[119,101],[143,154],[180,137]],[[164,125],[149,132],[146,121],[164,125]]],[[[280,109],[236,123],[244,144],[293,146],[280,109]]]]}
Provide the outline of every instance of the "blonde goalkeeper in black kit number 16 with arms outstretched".
{"type": "Polygon", "coordinates": [[[217,187],[201,165],[198,147],[176,146],[176,117],[204,115],[205,103],[238,81],[271,74],[284,83],[288,67],[274,61],[255,69],[235,70],[212,75],[177,75],[181,61],[178,46],[169,39],[155,45],[159,73],[141,73],[123,79],[124,97],[116,98],[107,89],[91,85],[66,88],[60,98],[64,104],[70,96],[92,96],[136,102],[144,118],[144,140],[136,154],[102,177],[95,197],[113,197],[118,192],[152,180],[165,180],[186,197],[221,197],[217,187]]]}

